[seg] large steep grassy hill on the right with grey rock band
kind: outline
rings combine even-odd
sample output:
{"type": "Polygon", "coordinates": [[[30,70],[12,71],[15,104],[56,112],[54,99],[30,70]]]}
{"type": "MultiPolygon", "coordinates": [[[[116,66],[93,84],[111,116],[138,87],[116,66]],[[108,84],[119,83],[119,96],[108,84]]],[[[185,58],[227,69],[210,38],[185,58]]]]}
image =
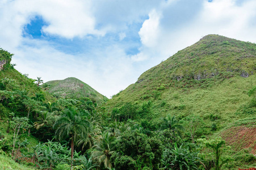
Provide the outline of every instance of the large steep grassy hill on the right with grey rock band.
{"type": "MultiPolygon", "coordinates": [[[[256,105],[247,95],[256,84],[255,71],[256,44],[208,35],[145,71],[107,102],[108,112],[121,120],[153,124],[167,114],[200,116],[212,134],[241,118],[255,117],[256,105]]],[[[244,121],[249,123],[255,125],[244,121]]]]}

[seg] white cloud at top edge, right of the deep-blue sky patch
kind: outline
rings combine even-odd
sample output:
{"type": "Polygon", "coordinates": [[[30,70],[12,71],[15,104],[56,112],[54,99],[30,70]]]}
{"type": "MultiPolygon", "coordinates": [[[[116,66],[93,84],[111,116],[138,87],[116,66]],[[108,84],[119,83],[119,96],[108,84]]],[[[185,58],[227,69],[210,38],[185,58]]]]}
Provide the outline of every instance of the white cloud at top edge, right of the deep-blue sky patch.
{"type": "MultiPolygon", "coordinates": [[[[89,34],[103,36],[104,32],[95,29],[95,18],[91,14],[90,1],[41,1],[39,15],[49,23],[43,28],[45,33],[72,39],[89,34]]],[[[37,7],[39,7],[37,6],[37,7]]],[[[35,6],[35,10],[37,9],[35,6]]]]}

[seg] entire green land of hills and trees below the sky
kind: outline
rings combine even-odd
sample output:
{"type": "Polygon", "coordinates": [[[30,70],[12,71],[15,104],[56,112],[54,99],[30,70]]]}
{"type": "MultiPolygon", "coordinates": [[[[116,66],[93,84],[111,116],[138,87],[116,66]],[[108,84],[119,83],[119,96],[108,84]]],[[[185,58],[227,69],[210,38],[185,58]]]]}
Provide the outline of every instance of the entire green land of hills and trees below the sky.
{"type": "Polygon", "coordinates": [[[256,44],[205,36],[110,100],[56,95],[60,80],[30,79],[12,56],[0,49],[2,169],[256,166],[256,44]]]}

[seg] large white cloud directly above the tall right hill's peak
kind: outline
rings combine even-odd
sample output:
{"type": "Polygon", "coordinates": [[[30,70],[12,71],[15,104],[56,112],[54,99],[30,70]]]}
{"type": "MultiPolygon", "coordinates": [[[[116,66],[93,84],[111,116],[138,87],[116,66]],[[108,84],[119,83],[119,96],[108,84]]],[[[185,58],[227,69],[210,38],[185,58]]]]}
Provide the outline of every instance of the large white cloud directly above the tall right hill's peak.
{"type": "MultiPolygon", "coordinates": [[[[143,46],[141,52],[134,56],[135,59],[145,54],[152,62],[166,59],[208,34],[256,41],[255,1],[245,1],[239,5],[234,0],[202,1],[201,7],[195,3],[195,7],[198,7],[195,8],[196,12],[187,11],[188,14],[181,16],[181,10],[186,12],[194,8],[192,2],[190,6],[186,3],[179,5],[182,2],[163,3],[158,12],[149,13],[149,19],[144,21],[139,32],[143,46]],[[178,10],[178,13],[175,14],[173,10],[178,10]]],[[[137,60],[140,61],[140,58],[137,60]]]]}

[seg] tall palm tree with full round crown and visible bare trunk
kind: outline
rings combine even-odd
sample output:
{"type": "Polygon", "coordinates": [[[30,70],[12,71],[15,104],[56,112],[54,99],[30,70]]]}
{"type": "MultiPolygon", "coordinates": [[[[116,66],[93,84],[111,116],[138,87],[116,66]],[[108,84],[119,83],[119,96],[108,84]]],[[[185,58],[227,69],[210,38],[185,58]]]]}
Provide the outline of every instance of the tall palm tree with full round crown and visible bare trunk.
{"type": "Polygon", "coordinates": [[[57,128],[55,135],[58,140],[68,137],[71,139],[71,158],[74,155],[74,142],[87,133],[89,122],[83,119],[83,113],[78,112],[75,108],[69,108],[62,112],[62,115],[54,123],[53,128],[57,128]]]}

